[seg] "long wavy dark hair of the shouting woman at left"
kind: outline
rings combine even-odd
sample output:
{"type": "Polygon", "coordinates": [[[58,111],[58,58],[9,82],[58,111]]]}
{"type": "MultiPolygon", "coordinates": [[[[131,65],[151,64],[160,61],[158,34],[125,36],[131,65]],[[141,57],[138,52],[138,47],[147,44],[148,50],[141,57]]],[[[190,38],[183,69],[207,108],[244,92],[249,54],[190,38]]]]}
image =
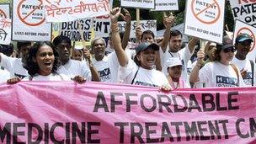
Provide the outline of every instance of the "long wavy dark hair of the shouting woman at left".
{"type": "Polygon", "coordinates": [[[29,56],[27,58],[27,61],[25,61],[24,63],[24,68],[28,70],[29,75],[32,77],[35,76],[35,74],[38,73],[40,70],[40,67],[36,62],[33,61],[33,58],[35,58],[37,51],[39,51],[40,47],[43,45],[49,45],[52,48],[53,55],[55,56],[51,72],[56,73],[58,67],[60,66],[59,55],[54,45],[52,45],[51,42],[48,41],[36,42],[34,45],[32,45],[31,49],[29,50],[29,56]]]}

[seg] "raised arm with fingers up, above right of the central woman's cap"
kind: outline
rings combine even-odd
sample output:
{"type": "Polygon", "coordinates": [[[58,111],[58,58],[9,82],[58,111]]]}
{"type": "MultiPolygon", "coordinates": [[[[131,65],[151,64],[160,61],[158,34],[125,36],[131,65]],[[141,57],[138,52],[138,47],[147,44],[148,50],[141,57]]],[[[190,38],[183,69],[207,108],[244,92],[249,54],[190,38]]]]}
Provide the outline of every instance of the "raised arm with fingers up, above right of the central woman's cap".
{"type": "Polygon", "coordinates": [[[163,34],[162,44],[159,45],[162,48],[163,53],[167,49],[168,41],[170,40],[171,27],[173,26],[174,21],[175,17],[172,13],[169,16],[167,16],[166,13],[163,13],[163,24],[165,26],[165,31],[163,34]]]}

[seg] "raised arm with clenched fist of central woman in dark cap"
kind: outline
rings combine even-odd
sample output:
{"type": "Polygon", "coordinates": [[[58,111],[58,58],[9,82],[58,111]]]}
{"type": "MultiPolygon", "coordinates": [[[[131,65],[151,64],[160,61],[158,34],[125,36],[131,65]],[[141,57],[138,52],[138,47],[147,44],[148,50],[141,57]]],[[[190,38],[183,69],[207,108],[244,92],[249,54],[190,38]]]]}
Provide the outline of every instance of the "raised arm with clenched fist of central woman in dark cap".
{"type": "Polygon", "coordinates": [[[115,49],[116,56],[120,63],[121,67],[126,67],[128,64],[128,56],[126,56],[125,51],[122,49],[120,34],[119,34],[119,27],[117,24],[117,19],[120,16],[121,8],[113,8],[110,13],[111,19],[111,31],[112,31],[112,42],[115,49]]]}

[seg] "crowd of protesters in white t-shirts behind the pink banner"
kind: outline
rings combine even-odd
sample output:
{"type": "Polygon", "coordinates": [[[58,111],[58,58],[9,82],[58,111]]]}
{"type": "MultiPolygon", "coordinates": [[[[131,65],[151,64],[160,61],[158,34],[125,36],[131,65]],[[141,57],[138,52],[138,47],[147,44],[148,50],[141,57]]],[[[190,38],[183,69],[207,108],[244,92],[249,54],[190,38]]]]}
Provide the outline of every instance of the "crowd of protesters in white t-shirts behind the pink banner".
{"type": "Polygon", "coordinates": [[[247,57],[253,39],[237,35],[235,45],[224,36],[222,45],[206,42],[199,45],[191,38],[184,45],[183,34],[171,29],[175,17],[164,15],[163,39],[156,40],[150,30],[136,28],[136,43],[129,41],[131,14],[113,8],[109,17],[111,32],[106,42],[95,37],[91,47],[72,45],[63,35],[52,42],[17,42],[1,45],[0,83],[19,81],[68,81],[77,83],[127,83],[163,90],[177,88],[250,87],[255,85],[255,61],[247,57]],[[125,20],[125,33],[119,32],[119,17],[125,20]],[[199,47],[195,51],[195,48],[199,47]],[[197,56],[191,62],[191,56],[197,56]],[[191,70],[190,70],[191,69],[191,70]]]}

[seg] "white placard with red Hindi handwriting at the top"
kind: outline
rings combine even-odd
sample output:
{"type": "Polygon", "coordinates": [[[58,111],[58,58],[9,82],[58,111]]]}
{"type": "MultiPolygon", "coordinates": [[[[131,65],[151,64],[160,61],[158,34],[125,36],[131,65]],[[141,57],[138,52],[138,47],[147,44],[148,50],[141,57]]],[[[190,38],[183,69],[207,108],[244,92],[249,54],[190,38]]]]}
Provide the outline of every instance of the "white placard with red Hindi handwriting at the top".
{"type": "Polygon", "coordinates": [[[109,14],[109,0],[43,0],[47,22],[67,22],[109,14]]]}

